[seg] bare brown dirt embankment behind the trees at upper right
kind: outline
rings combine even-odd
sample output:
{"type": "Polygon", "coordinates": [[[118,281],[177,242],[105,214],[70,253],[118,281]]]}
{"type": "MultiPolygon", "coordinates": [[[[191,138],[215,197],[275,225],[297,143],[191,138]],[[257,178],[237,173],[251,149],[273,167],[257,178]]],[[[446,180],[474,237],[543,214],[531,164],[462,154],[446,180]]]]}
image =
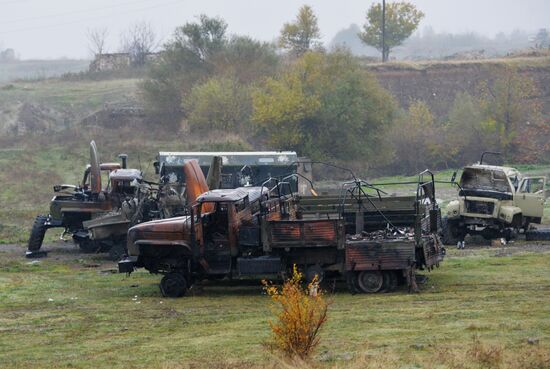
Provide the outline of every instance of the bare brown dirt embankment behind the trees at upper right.
{"type": "Polygon", "coordinates": [[[390,63],[369,66],[379,82],[402,107],[411,100],[426,102],[432,112],[444,118],[458,92],[475,95],[482,81],[491,83],[503,66],[517,67],[532,78],[539,89],[542,112],[550,115],[550,58],[500,59],[468,62],[390,63]]]}

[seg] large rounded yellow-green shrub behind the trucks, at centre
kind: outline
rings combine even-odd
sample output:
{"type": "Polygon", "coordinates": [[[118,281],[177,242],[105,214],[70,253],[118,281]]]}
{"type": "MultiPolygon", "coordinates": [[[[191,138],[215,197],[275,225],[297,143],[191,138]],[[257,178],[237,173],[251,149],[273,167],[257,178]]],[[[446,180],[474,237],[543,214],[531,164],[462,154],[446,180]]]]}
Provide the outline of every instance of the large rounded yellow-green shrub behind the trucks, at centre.
{"type": "Polygon", "coordinates": [[[252,105],[252,121],[272,147],[313,160],[390,162],[382,140],[395,101],[345,50],[305,53],[263,81],[252,93],[252,105]]]}

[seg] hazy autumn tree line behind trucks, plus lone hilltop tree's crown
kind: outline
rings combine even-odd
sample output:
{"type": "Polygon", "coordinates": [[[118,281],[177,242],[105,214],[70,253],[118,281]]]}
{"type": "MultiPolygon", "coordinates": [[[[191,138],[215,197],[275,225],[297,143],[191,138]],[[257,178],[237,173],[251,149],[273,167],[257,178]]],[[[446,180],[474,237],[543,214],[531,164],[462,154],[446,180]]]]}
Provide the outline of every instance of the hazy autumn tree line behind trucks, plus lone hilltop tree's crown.
{"type": "MultiPolygon", "coordinates": [[[[373,7],[365,41],[379,33],[368,26],[373,7]]],[[[414,10],[418,25],[421,12],[404,9],[414,10]]],[[[416,25],[395,29],[406,38],[416,25]]],[[[398,44],[389,40],[383,52],[398,44]]],[[[513,162],[547,160],[550,148],[540,137],[549,133],[548,122],[535,103],[537,86],[511,67],[497,73],[475,94],[457,92],[444,118],[419,100],[402,108],[348,49],[322,47],[317,17],[304,6],[276,43],[229,35],[223,19],[205,15],[178,27],[141,90],[148,112],[166,124],[231,132],[255,148],[296,150],[358,170],[456,167],[483,150],[502,151],[513,162]]]]}

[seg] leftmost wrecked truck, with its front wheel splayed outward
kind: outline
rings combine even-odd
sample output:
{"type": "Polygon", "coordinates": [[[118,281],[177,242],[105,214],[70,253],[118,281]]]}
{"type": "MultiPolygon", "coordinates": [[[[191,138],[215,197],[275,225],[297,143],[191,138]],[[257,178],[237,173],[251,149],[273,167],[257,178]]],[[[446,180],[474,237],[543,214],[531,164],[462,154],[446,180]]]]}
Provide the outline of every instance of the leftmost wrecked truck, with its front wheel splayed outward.
{"type": "Polygon", "coordinates": [[[82,182],[53,187],[55,196],[50,202],[50,213],[36,217],[29,237],[27,257],[46,254],[40,249],[50,228],[63,228],[61,238],[71,235],[84,252],[96,252],[100,248],[109,251],[112,244],[99,244],[90,239],[84,223],[120,207],[126,197],[134,195],[132,183],[141,180],[141,172],[126,168],[125,154],[119,157],[122,164],[100,163],[96,144],[90,142],[90,164],[84,170],[82,182]],[[105,187],[102,187],[102,175],[109,178],[105,187]]]}

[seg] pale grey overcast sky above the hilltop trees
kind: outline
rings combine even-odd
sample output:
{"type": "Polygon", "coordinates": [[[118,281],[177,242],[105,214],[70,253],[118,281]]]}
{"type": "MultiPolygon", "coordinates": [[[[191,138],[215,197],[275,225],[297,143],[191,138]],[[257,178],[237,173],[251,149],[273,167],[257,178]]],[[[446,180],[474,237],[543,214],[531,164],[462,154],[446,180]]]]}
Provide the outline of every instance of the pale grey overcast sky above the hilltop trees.
{"type": "MultiPolygon", "coordinates": [[[[388,0],[391,1],[391,0],[388,0]]],[[[420,25],[436,32],[475,31],[494,36],[515,29],[550,28],[550,0],[410,0],[426,17],[420,25]]],[[[22,59],[88,58],[86,30],[107,27],[108,51],[132,23],[148,21],[167,39],[175,27],[199,14],[220,16],[229,32],[261,40],[276,38],[300,6],[313,7],[324,42],[340,29],[364,22],[373,0],[0,0],[0,49],[22,59]]]]}

